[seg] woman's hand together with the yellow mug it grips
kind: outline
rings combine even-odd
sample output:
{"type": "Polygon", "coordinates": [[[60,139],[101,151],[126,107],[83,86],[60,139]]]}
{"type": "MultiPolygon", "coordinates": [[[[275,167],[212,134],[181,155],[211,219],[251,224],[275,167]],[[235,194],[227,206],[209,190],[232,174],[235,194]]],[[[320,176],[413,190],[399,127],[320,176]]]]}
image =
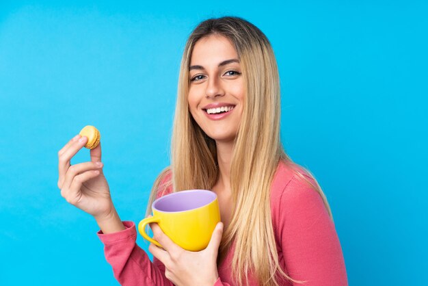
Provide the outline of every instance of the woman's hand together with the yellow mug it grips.
{"type": "Polygon", "coordinates": [[[165,265],[174,285],[214,285],[223,224],[217,195],[209,190],[184,190],[157,198],[153,216],[138,224],[151,242],[148,250],[165,265]],[[150,224],[153,238],[146,233],[150,224]]]}

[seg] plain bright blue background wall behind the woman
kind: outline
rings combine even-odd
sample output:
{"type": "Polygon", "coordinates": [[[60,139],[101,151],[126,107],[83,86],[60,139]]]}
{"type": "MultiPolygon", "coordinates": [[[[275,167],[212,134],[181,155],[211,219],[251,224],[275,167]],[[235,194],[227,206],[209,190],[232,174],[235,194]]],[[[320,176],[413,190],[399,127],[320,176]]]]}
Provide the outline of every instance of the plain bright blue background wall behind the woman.
{"type": "Polygon", "coordinates": [[[427,14],[426,1],[0,1],[0,285],[118,285],[94,219],[59,194],[57,151],[98,127],[118,213],[142,219],[185,40],[226,15],[273,45],[282,140],[330,202],[349,285],[427,285],[427,14]]]}

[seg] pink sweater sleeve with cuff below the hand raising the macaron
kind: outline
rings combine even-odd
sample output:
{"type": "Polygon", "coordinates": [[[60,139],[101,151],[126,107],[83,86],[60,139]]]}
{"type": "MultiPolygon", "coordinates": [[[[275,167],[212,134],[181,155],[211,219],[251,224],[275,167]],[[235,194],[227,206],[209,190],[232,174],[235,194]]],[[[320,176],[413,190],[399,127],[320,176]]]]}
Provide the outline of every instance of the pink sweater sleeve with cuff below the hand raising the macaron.
{"type": "Polygon", "coordinates": [[[105,259],[113,268],[113,275],[120,285],[173,285],[163,270],[152,263],[142,248],[135,244],[137,231],[133,222],[123,222],[126,229],[98,237],[104,244],[105,259]]]}

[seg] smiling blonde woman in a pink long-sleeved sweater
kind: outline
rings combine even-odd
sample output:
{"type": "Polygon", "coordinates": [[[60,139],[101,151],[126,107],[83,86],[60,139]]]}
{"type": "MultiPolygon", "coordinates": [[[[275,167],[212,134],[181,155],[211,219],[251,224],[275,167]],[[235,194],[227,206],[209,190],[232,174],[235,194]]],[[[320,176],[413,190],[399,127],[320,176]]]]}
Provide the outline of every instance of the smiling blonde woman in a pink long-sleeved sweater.
{"type": "Polygon", "coordinates": [[[203,21],[183,53],[172,134],[171,166],[155,198],[212,190],[222,222],[209,246],[183,250],[157,224],[163,246],[151,262],[122,222],[103,175],[101,145],[91,161],[70,166],[87,138],[59,151],[58,186],[66,200],[101,228],[105,256],[122,285],[347,285],[340,242],[314,177],[280,143],[280,85],[271,44],[242,18],[203,21]]]}

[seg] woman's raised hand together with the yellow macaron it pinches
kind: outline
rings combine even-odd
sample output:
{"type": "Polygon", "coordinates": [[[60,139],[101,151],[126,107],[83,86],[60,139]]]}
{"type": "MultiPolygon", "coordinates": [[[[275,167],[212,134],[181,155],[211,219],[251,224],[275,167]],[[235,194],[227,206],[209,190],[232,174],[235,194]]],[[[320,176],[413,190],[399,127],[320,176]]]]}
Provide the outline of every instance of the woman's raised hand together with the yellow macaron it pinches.
{"type": "Polygon", "coordinates": [[[121,231],[122,222],[111,201],[109,185],[103,174],[100,133],[86,126],[58,152],[58,187],[68,203],[90,213],[104,233],[121,231]],[[90,149],[91,161],[70,164],[83,147],[90,149]]]}

